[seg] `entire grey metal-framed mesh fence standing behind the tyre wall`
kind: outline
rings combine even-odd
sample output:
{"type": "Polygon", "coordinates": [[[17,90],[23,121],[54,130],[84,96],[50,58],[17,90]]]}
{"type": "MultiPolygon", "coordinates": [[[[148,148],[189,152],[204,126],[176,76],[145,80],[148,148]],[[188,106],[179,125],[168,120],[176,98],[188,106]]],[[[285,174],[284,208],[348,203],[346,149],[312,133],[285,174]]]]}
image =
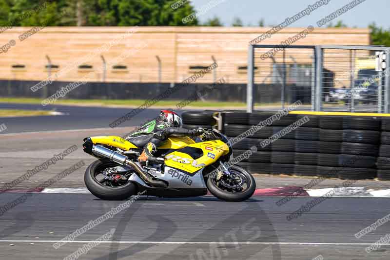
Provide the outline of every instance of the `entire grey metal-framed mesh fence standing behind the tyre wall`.
{"type": "Polygon", "coordinates": [[[312,111],[389,112],[390,48],[250,45],[247,110],[300,100],[312,111]],[[280,95],[270,97],[270,88],[280,95]]]}

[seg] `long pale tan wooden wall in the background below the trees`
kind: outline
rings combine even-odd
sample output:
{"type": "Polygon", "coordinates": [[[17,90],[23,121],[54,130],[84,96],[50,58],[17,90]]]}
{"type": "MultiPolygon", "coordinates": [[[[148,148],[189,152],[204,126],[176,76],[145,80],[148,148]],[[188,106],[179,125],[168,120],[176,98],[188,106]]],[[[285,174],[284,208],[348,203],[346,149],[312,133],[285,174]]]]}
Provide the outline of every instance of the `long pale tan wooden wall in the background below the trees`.
{"type": "MultiPolygon", "coordinates": [[[[57,72],[75,64],[66,73],[61,73],[58,80],[76,81],[92,73],[91,81],[101,81],[100,55],[103,55],[109,63],[106,81],[157,82],[158,55],[162,60],[162,82],[179,82],[192,74],[189,66],[208,66],[213,63],[214,56],[218,63],[217,77],[226,77],[230,83],[242,83],[247,81],[247,76],[239,73],[237,68],[247,65],[249,41],[270,28],[138,27],[136,33],[126,34],[132,27],[47,27],[20,41],[19,35],[29,29],[16,27],[0,34],[0,46],[10,40],[16,41],[6,53],[0,53],[0,79],[46,79],[45,56],[48,55],[53,64],[59,65],[57,72]],[[96,51],[103,44],[124,35],[123,40],[118,40],[109,49],[96,51]],[[127,57],[115,61],[120,55],[127,57]],[[12,69],[12,65],[17,64],[25,65],[25,68],[12,69]],[[79,70],[77,66],[80,64],[92,65],[93,69],[79,70]],[[112,69],[113,65],[125,65],[127,69],[116,71],[112,69]]],[[[261,44],[279,44],[303,29],[283,29],[261,44]]],[[[368,29],[315,28],[296,44],[368,45],[370,34],[368,29]]],[[[212,79],[212,73],[209,73],[198,82],[212,82],[212,79]]]]}

